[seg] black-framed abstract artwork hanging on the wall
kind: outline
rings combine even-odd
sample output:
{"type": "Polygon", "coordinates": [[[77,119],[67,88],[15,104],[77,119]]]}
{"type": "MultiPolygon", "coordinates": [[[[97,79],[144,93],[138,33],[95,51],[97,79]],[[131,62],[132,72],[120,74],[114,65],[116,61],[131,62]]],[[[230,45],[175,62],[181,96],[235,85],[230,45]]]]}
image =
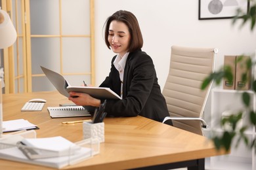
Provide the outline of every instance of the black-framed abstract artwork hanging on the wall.
{"type": "Polygon", "coordinates": [[[236,16],[236,10],[245,13],[249,9],[249,0],[199,0],[199,20],[226,19],[236,16]]]}

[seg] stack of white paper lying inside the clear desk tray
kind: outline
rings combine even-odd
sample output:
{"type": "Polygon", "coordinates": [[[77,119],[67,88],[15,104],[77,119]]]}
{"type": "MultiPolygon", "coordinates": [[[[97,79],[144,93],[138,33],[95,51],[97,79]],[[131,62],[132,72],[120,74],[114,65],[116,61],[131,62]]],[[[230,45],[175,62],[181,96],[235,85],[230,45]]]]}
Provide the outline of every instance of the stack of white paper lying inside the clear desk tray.
{"type": "Polygon", "coordinates": [[[47,167],[61,168],[93,156],[91,148],[78,146],[67,139],[64,139],[63,137],[23,139],[22,143],[26,143],[27,146],[25,147],[27,150],[33,149],[38,155],[45,154],[45,151],[47,150],[51,151],[50,153],[56,152],[58,154],[55,156],[50,155],[45,158],[38,157],[32,159],[29,158],[28,155],[24,154],[24,150],[21,148],[22,146],[16,145],[7,148],[3,147],[4,143],[0,143],[0,158],[43,165],[47,167]]]}

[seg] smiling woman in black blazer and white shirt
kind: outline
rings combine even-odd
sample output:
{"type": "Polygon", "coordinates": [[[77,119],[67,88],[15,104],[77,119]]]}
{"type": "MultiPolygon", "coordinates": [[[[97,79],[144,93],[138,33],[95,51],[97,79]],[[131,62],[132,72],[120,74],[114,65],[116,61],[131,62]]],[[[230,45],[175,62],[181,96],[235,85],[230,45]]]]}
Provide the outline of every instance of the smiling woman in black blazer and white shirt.
{"type": "MultiPolygon", "coordinates": [[[[112,14],[105,23],[105,42],[117,55],[100,87],[110,88],[121,97],[106,99],[108,116],[140,115],[158,122],[169,116],[152,58],[141,50],[143,39],[135,15],[126,10],[112,14]]],[[[79,96],[69,97],[77,105],[99,107],[104,101],[87,93],[70,92],[72,95],[79,96]]]]}

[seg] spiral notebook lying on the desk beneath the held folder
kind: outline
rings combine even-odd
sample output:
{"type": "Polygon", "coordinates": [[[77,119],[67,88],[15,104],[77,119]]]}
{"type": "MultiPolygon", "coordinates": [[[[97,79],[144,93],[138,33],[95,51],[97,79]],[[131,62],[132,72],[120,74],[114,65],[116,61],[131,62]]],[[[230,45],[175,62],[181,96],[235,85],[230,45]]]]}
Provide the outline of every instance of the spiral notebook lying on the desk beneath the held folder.
{"type": "Polygon", "coordinates": [[[89,111],[81,106],[47,107],[47,110],[51,118],[91,116],[89,111]]]}

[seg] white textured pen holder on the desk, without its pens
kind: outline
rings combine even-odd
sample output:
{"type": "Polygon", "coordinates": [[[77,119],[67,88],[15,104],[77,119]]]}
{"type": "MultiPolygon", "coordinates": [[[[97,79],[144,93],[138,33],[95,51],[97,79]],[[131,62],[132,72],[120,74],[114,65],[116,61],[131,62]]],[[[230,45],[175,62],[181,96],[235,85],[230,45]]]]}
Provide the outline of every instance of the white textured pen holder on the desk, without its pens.
{"type": "Polygon", "coordinates": [[[98,139],[104,143],[104,122],[93,124],[92,122],[83,122],[83,139],[98,139]]]}

